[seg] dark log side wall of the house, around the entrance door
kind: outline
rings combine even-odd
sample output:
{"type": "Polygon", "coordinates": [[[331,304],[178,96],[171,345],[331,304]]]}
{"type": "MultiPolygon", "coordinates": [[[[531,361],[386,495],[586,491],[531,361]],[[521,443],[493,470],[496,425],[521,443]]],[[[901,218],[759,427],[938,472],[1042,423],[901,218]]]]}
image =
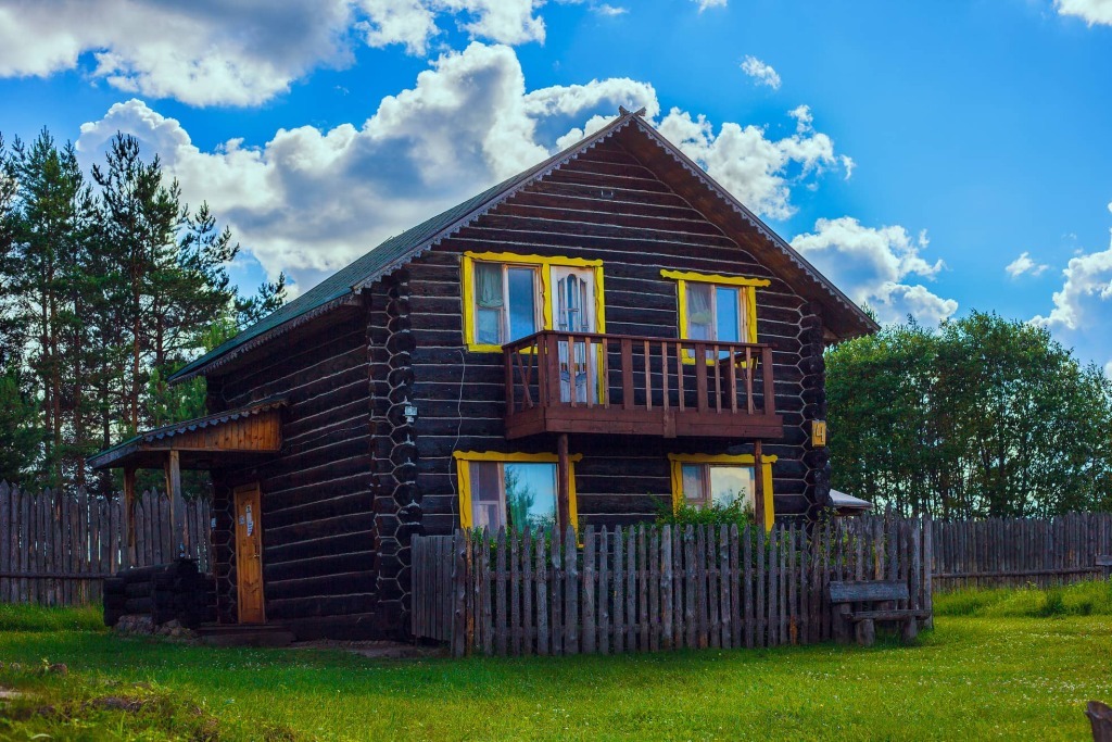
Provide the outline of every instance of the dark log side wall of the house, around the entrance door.
{"type": "Polygon", "coordinates": [[[289,399],[280,457],[214,472],[221,621],[236,621],[232,488],[258,481],[268,621],[373,623],[366,620],[377,580],[367,317],[361,306],[335,310],[209,379],[211,412],[271,395],[289,399]]]}

